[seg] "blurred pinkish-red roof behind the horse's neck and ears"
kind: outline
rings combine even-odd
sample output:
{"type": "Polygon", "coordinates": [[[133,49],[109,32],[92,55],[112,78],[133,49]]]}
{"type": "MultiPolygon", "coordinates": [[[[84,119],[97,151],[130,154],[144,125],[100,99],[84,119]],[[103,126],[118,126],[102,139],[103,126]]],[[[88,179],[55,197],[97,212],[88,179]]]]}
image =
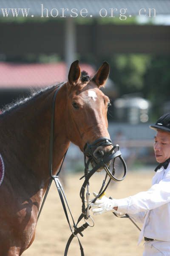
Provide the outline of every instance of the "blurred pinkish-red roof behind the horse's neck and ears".
{"type": "MultiPolygon", "coordinates": [[[[93,75],[95,70],[88,64],[80,64],[81,70],[93,75]]],[[[0,62],[0,88],[43,87],[67,80],[64,62],[48,64],[15,64],[0,62]]]]}

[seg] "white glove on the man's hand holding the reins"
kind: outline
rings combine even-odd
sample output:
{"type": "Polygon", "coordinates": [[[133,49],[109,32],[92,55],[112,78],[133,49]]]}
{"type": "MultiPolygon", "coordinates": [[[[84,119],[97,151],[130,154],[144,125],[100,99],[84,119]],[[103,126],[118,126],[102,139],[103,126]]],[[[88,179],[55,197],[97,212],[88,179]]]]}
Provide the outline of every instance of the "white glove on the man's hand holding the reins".
{"type": "MultiPolygon", "coordinates": [[[[94,192],[94,196],[97,194],[94,192]]],[[[113,209],[113,207],[116,207],[116,199],[110,199],[107,198],[105,195],[102,196],[102,198],[97,199],[95,203],[91,203],[91,211],[93,212],[94,215],[99,215],[104,212],[117,212],[116,210],[113,209]]]]}

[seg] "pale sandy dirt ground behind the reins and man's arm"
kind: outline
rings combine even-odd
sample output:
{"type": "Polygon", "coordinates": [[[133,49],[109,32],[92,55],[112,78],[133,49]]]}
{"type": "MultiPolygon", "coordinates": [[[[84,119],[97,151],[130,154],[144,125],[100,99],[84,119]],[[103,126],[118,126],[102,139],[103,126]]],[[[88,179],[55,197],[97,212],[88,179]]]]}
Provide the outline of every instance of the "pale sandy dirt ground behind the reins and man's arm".
{"type": "MultiPolygon", "coordinates": [[[[107,196],[124,198],[144,191],[150,187],[153,172],[138,171],[129,172],[125,180],[112,183],[107,196]]],[[[77,220],[81,212],[81,200],[79,190],[82,180],[81,174],[68,175],[65,193],[72,214],[77,220]]],[[[90,192],[98,191],[104,175],[95,174],[90,182],[90,192]]],[[[142,242],[137,246],[139,230],[128,219],[116,218],[108,212],[99,216],[93,216],[95,226],[88,227],[84,231],[84,237],[80,237],[85,256],[140,256],[142,255],[142,242]]],[[[45,206],[37,224],[36,237],[31,247],[23,253],[23,256],[63,256],[66,242],[71,232],[62,209],[62,204],[55,184],[51,186],[45,206]]],[[[72,241],[68,256],[79,256],[79,244],[77,238],[72,241]]]]}

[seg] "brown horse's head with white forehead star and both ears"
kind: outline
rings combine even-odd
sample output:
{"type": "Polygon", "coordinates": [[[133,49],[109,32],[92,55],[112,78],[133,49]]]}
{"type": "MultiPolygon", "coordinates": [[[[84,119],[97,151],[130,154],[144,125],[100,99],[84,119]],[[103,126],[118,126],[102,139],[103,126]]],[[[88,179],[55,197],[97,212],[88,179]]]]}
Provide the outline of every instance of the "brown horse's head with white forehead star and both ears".
{"type": "MultiPolygon", "coordinates": [[[[91,145],[100,138],[110,138],[108,133],[107,111],[111,105],[100,87],[105,85],[109,75],[109,64],[104,62],[93,77],[80,70],[79,61],[71,64],[68,73],[67,127],[68,138],[84,151],[86,145],[91,145]]],[[[113,148],[111,145],[96,144],[92,151],[92,166],[99,163],[113,148]]]]}

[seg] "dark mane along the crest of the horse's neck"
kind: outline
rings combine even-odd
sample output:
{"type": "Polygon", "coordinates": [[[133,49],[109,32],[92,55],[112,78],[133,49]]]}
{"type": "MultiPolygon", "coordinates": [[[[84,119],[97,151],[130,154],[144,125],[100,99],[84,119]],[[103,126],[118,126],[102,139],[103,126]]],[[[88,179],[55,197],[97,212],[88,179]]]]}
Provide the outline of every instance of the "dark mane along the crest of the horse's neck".
{"type": "Polygon", "coordinates": [[[30,101],[30,100],[34,100],[37,96],[40,96],[42,93],[48,91],[48,90],[52,90],[57,86],[57,84],[53,84],[50,85],[48,87],[45,88],[34,88],[33,90],[30,91],[30,93],[28,93],[27,97],[21,97],[19,99],[16,99],[13,102],[8,103],[7,105],[3,106],[3,108],[1,108],[0,111],[2,111],[2,113],[0,114],[3,115],[5,113],[8,113],[9,111],[14,110],[15,108],[19,107],[20,105],[25,104],[26,102],[30,101]]]}

